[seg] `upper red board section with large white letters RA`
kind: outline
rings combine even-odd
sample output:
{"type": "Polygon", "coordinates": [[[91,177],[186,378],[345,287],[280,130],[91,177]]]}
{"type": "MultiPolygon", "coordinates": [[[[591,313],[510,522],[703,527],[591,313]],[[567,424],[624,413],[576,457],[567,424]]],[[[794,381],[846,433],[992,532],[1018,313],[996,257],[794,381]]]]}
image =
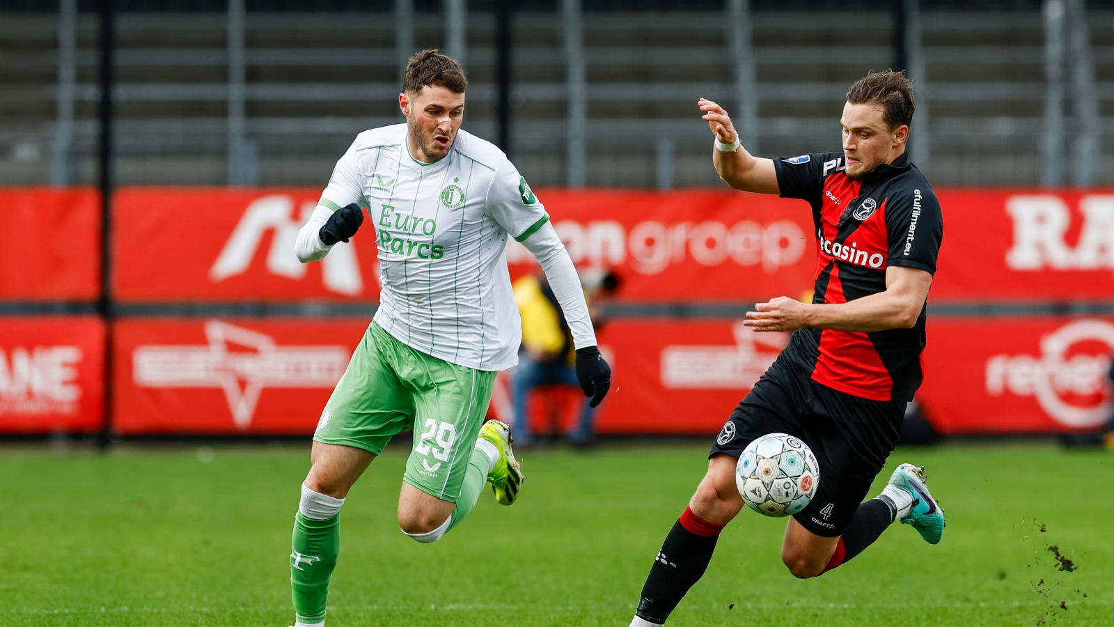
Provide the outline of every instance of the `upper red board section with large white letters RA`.
{"type": "Polygon", "coordinates": [[[1110,300],[1114,193],[939,193],[938,301],[1110,300]]]}

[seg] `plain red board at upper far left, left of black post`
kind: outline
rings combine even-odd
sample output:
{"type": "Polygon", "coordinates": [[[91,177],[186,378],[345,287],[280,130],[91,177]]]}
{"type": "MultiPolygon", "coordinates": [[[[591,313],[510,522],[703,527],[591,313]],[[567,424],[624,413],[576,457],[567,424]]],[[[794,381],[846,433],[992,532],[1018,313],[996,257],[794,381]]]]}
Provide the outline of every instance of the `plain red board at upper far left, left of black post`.
{"type": "Polygon", "coordinates": [[[84,187],[0,189],[0,299],[100,295],[100,194],[84,187]]]}

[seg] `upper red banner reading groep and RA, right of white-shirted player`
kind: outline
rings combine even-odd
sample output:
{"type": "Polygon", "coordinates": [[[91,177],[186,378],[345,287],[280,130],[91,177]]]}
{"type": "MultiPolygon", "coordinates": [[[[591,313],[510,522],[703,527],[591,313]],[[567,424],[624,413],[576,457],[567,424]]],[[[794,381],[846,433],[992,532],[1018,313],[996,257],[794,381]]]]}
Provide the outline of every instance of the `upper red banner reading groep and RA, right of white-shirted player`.
{"type": "MultiPolygon", "coordinates": [[[[939,192],[945,234],[935,301],[1107,300],[1114,193],[939,192]]],[[[815,238],[805,203],[741,192],[573,192],[539,196],[578,268],[624,279],[620,298],[766,300],[811,290],[815,238]]],[[[511,244],[511,271],[532,268],[511,244]]]]}

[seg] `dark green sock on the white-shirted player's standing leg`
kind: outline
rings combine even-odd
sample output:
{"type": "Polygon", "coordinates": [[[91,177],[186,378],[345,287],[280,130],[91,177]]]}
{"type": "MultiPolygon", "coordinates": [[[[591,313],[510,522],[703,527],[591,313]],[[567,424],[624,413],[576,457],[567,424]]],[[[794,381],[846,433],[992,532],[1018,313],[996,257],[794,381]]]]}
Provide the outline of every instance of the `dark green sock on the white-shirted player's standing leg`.
{"type": "Polygon", "coordinates": [[[290,553],[290,587],[294,611],[302,623],[325,619],[329,580],[341,549],[341,514],[325,520],[294,514],[293,551],[290,553]]]}

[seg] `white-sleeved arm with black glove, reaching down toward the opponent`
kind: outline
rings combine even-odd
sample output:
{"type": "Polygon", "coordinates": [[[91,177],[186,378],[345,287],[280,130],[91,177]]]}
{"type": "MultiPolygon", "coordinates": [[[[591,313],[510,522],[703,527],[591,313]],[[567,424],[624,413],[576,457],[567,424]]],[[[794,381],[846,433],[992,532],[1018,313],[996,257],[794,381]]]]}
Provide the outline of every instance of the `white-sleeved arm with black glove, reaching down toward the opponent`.
{"type": "Polygon", "coordinates": [[[573,345],[576,347],[576,376],[585,396],[592,397],[588,404],[595,407],[603,402],[612,385],[612,368],[596,346],[596,331],[592,326],[588,302],[584,298],[576,266],[549,222],[522,240],[522,245],[541,264],[549,288],[554,290],[561,312],[565,314],[565,321],[568,322],[573,345]]]}

